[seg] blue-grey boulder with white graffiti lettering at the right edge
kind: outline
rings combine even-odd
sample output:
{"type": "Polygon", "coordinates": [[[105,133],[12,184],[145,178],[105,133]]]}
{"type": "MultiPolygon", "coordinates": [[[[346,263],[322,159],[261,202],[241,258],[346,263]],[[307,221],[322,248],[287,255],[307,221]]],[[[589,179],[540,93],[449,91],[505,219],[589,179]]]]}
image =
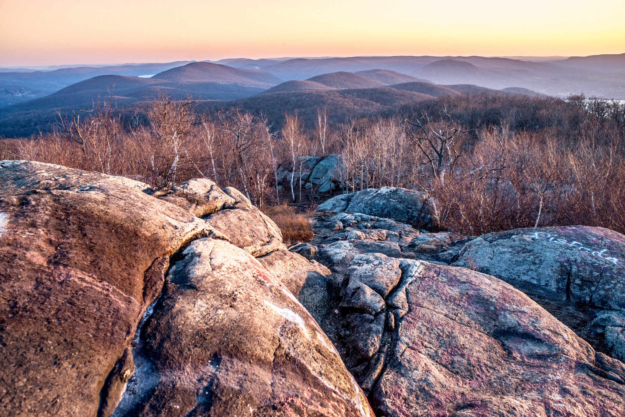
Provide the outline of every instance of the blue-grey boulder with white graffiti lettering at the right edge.
{"type": "MultiPolygon", "coordinates": [[[[566,226],[485,234],[464,244],[453,264],[494,275],[562,306],[581,305],[591,321],[625,311],[624,262],[622,234],[566,226]]],[[[625,358],[622,327],[604,322],[605,318],[596,320],[591,327],[604,334],[606,349],[614,358],[625,358]]]]}

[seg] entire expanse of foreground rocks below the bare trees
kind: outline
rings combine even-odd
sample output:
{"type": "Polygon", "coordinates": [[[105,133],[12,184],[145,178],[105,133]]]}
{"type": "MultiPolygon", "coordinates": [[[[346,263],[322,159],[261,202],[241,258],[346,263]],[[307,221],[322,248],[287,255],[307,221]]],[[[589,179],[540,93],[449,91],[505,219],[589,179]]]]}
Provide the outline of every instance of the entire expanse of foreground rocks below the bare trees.
{"type": "MultiPolygon", "coordinates": [[[[334,184],[322,162],[302,178],[334,184]]],[[[289,251],[208,179],[1,161],[0,414],[625,414],[622,235],[452,241],[399,188],[324,204],[289,251]],[[613,357],[512,285],[601,313],[613,357]]]]}

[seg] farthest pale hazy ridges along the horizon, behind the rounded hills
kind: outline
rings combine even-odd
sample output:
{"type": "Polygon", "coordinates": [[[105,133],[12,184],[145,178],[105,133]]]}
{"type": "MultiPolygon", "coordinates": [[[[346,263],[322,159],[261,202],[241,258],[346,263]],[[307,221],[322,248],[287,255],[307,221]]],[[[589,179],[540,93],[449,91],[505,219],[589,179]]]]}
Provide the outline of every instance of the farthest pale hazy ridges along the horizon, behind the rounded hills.
{"type": "MultiPolygon", "coordinates": [[[[436,81],[442,84],[477,84],[486,88],[527,88],[552,96],[566,97],[584,92],[587,96],[625,99],[625,54],[604,54],[566,59],[537,59],[539,57],[497,58],[481,56],[361,56],[344,58],[276,58],[222,59],[212,64],[264,71],[283,81],[306,80],[337,72],[357,73],[381,83],[401,84],[411,81],[436,81]],[[534,58],[526,59],[526,58],[534,58]],[[455,66],[451,61],[463,61],[471,66],[455,66]],[[432,71],[432,64],[447,61],[449,71],[442,78],[442,68],[432,71]],[[428,69],[423,70],[426,66],[428,69]],[[477,68],[477,69],[476,69],[477,68]],[[366,74],[367,71],[376,71],[366,74]],[[384,78],[381,71],[416,75],[421,80],[384,78]],[[422,72],[419,72],[422,71],[422,72]],[[428,72],[429,71],[429,72],[428,72]],[[362,72],[362,73],[361,73],[362,72]],[[437,79],[427,77],[435,74],[437,79]],[[377,78],[376,78],[377,77],[377,78]]],[[[548,58],[548,57],[547,57],[548,58]]],[[[557,58],[557,57],[551,57],[557,58]]],[[[0,69],[0,108],[29,99],[52,94],[61,88],[99,75],[146,76],[197,61],[174,63],[123,64],[115,66],[84,66],[54,71],[31,69],[0,69]],[[8,71],[9,70],[9,71],[8,71]],[[8,71],[8,72],[7,72],[8,71]]],[[[207,61],[201,61],[207,62],[207,61]]],[[[441,67],[442,64],[435,64],[441,67]]],[[[397,75],[394,75],[396,77],[397,75]]],[[[199,81],[199,80],[198,80],[199,81]]],[[[211,82],[210,80],[206,80],[211,82]]],[[[262,81],[262,80],[255,80],[262,81]]],[[[222,83],[222,81],[216,81],[222,83]]],[[[279,84],[266,79],[264,82],[279,84]]]]}

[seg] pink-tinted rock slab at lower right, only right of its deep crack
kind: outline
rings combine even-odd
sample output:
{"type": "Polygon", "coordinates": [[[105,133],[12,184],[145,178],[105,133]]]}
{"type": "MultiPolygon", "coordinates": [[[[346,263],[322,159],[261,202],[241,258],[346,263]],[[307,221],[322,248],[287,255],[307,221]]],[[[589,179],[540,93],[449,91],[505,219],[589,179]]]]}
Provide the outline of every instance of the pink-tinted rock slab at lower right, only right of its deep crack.
{"type": "Polygon", "coordinates": [[[396,331],[371,393],[383,415],[625,413],[622,376],[599,368],[589,344],[520,291],[464,268],[402,269],[409,308],[391,310],[396,331]]]}

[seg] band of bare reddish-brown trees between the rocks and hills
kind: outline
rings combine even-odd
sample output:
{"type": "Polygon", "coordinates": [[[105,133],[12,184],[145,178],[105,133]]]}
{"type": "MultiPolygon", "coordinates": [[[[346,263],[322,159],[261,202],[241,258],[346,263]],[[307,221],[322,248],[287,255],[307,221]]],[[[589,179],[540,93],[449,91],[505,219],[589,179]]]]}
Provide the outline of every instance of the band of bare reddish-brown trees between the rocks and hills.
{"type": "Polygon", "coordinates": [[[295,110],[281,126],[240,108],[199,113],[194,105],[163,95],[143,115],[129,116],[111,97],[59,116],[52,133],[5,139],[0,158],[126,176],[155,188],[204,177],[240,189],[259,208],[304,209],[381,186],[418,189],[435,199],[441,229],[472,236],[570,224],[625,232],[619,101],[446,96],[340,123],[322,108],[304,123],[295,110]],[[329,154],[341,161],[333,187],[306,188],[307,159],[329,154]]]}

